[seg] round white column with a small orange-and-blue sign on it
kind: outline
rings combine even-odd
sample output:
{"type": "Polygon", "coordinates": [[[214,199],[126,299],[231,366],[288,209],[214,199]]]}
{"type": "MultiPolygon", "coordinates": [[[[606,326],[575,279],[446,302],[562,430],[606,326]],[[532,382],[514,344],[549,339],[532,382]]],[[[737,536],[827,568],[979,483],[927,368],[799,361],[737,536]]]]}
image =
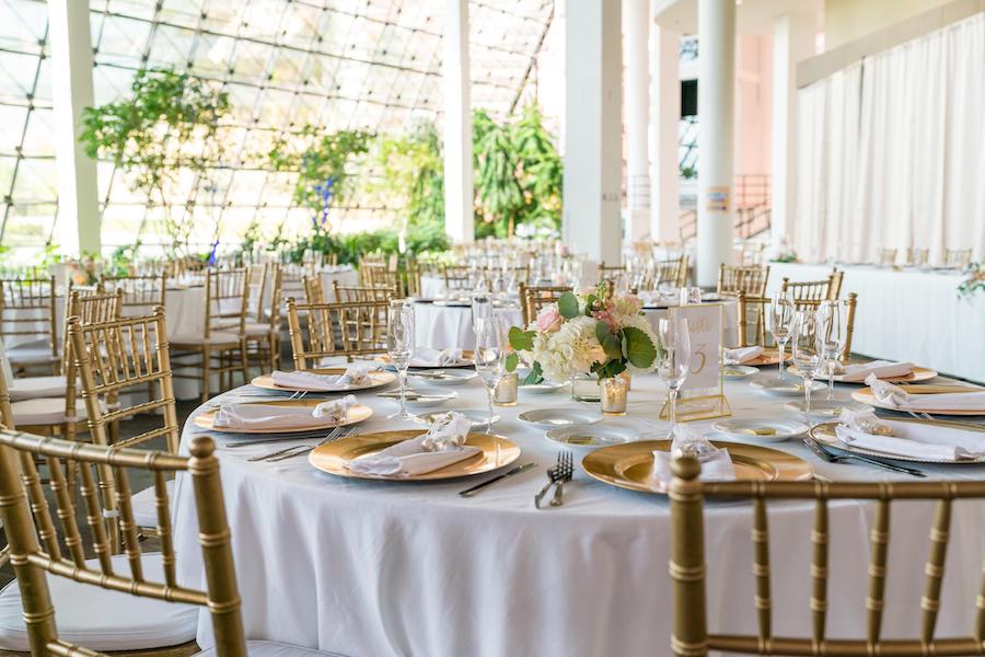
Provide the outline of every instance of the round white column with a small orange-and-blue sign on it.
{"type": "Polygon", "coordinates": [[[698,0],[697,284],[732,263],[735,0],[698,0]]]}

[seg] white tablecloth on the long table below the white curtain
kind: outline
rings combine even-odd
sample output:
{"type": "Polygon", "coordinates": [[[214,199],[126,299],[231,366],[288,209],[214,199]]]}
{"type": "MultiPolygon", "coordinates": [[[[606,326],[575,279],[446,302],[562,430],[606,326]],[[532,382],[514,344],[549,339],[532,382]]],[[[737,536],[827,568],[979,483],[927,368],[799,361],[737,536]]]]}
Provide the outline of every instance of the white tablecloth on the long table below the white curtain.
{"type": "MultiPolygon", "coordinates": [[[[858,293],[854,351],[985,382],[985,295],[959,297],[962,274],[838,268],[845,272],[842,298],[858,293]]],[[[823,280],[830,273],[827,265],[770,263],[769,291],[778,290],[785,276],[823,280]]]]}

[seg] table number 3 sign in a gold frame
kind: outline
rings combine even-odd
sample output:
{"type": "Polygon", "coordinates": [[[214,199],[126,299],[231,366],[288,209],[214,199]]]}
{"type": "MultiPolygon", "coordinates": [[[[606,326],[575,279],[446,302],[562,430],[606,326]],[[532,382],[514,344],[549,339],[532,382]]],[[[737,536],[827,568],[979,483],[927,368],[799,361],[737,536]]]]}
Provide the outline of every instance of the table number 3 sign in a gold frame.
{"type": "MultiPolygon", "coordinates": [[[[721,353],[725,335],[725,306],[695,303],[669,308],[671,320],[684,318],[691,334],[691,368],[677,393],[677,419],[691,422],[731,415],[725,396],[721,353]]],[[[660,417],[670,417],[664,404],[660,417]]]]}

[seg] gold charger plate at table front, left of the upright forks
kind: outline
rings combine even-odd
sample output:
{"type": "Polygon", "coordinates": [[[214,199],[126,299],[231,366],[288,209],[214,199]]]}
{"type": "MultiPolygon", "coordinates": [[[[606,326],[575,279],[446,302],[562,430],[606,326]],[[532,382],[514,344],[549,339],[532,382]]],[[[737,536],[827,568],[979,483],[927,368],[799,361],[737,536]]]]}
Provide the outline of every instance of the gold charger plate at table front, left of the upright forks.
{"type": "Polygon", "coordinates": [[[343,438],[335,442],[328,442],[316,447],[308,457],[309,462],[323,472],[336,476],[349,479],[383,480],[390,482],[429,482],[460,476],[472,476],[491,470],[498,470],[509,465],[520,458],[520,446],[503,438],[488,434],[468,434],[465,445],[473,445],[483,450],[464,461],[445,465],[440,470],[433,470],[424,474],[406,477],[378,476],[372,474],[358,474],[346,468],[346,463],[358,457],[374,454],[394,445],[410,438],[416,438],[425,431],[409,429],[402,431],[381,431],[379,434],[366,434],[343,438]]]}

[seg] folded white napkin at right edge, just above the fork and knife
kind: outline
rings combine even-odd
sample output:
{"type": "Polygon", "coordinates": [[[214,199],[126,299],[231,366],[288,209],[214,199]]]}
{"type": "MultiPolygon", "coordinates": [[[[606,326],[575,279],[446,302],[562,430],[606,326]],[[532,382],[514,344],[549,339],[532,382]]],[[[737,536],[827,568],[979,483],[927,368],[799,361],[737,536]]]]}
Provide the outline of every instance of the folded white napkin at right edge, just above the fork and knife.
{"type": "Polygon", "coordinates": [[[835,435],[845,445],[913,459],[960,461],[985,456],[983,433],[887,420],[871,411],[842,411],[835,435]]]}

